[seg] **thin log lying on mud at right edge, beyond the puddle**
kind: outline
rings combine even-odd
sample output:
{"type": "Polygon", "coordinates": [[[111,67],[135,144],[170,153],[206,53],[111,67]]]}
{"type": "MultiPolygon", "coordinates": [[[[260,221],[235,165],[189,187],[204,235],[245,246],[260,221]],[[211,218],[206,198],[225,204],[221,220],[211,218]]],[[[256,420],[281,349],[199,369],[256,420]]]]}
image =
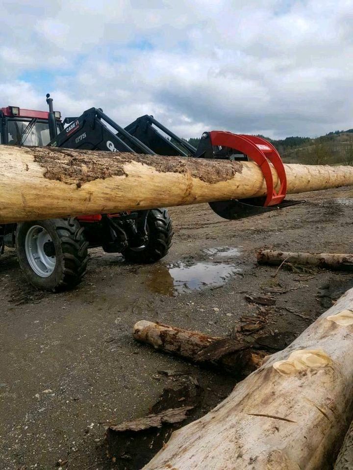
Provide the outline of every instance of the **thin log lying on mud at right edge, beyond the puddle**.
{"type": "Polygon", "coordinates": [[[260,250],[257,253],[259,264],[279,266],[282,263],[317,266],[340,271],[353,271],[353,255],[335,253],[291,253],[286,251],[260,250]]]}

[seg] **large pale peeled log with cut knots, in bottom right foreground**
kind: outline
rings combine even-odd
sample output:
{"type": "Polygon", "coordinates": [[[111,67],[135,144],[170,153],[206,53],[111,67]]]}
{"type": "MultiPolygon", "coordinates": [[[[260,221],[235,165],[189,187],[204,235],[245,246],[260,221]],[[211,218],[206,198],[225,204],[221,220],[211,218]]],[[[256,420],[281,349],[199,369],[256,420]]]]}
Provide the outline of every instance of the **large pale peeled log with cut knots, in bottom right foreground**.
{"type": "Polygon", "coordinates": [[[328,470],[353,416],[353,289],[144,470],[328,470]]]}

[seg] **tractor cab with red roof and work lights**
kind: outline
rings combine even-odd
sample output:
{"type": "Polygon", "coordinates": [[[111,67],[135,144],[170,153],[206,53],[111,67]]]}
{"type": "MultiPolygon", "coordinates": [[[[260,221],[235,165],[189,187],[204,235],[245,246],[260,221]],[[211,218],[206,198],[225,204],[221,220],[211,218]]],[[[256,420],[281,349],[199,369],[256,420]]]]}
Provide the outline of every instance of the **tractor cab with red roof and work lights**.
{"type": "MultiPolygon", "coordinates": [[[[59,134],[64,128],[60,111],[54,111],[53,115],[56,134],[59,134]]],[[[0,108],[0,143],[43,147],[50,140],[50,112],[18,106],[0,108]]]]}

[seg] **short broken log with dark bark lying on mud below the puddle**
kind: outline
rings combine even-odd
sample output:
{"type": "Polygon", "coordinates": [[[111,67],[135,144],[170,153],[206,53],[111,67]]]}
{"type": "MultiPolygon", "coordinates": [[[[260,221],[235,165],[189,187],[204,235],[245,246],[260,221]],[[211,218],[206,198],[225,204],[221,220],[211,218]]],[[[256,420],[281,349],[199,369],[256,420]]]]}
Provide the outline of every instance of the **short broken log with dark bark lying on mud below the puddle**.
{"type": "Polygon", "coordinates": [[[133,336],[137,341],[148,343],[160,351],[176,354],[200,365],[217,366],[235,376],[249,375],[265,355],[251,351],[249,343],[207,336],[198,331],[147,320],[134,325],[133,336]]]}

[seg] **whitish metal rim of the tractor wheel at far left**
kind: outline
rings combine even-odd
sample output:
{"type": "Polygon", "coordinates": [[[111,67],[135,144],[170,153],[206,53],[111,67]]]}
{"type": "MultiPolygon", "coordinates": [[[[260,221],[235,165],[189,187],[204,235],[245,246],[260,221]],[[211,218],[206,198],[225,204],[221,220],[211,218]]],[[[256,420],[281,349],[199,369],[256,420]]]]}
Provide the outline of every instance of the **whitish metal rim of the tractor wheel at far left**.
{"type": "Polygon", "coordinates": [[[56,257],[45,253],[44,245],[47,242],[52,242],[52,239],[40,225],[33,225],[26,233],[25,254],[30,267],[41,278],[48,278],[56,265],[56,257]]]}

